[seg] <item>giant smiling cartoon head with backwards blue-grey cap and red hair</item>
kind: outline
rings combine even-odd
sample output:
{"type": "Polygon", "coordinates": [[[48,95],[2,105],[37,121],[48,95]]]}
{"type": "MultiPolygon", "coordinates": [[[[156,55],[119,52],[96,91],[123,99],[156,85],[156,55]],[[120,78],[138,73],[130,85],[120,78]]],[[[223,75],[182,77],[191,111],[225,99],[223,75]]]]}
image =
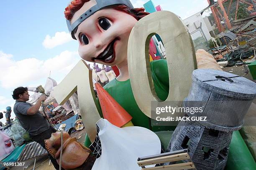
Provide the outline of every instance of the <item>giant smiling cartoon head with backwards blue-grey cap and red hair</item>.
{"type": "Polygon", "coordinates": [[[148,15],[129,0],[73,0],[65,9],[71,35],[82,59],[103,65],[127,65],[128,39],[138,20],[148,15]]]}

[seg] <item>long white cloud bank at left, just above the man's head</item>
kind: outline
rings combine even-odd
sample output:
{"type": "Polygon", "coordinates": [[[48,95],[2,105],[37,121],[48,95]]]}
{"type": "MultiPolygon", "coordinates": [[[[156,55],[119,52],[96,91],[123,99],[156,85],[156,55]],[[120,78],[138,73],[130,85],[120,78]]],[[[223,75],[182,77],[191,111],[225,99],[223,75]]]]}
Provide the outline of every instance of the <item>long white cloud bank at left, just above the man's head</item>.
{"type": "Polygon", "coordinates": [[[47,60],[27,58],[15,61],[12,55],[0,51],[0,86],[13,88],[28,85],[49,75],[66,75],[80,60],[78,52],[64,51],[47,60]],[[4,62],[2,62],[4,61],[4,62]]]}

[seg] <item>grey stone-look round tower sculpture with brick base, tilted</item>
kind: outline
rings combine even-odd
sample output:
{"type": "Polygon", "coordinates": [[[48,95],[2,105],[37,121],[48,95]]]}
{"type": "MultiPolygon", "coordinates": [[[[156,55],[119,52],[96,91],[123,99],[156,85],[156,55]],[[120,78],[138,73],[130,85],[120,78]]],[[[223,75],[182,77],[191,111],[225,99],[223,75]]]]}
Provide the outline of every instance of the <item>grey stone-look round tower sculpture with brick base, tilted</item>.
{"type": "Polygon", "coordinates": [[[207,117],[206,121],[181,121],[168,146],[169,151],[188,149],[197,170],[223,170],[234,130],[244,124],[244,116],[256,97],[256,84],[219,70],[195,70],[184,107],[202,107],[187,117],[207,117]]]}

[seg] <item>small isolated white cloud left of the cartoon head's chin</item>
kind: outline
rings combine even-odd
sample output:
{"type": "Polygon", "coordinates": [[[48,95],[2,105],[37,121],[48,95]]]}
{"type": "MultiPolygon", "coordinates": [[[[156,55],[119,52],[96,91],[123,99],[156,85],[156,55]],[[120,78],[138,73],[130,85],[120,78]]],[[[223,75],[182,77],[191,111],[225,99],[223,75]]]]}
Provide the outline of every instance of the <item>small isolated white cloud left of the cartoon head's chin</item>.
{"type": "Polygon", "coordinates": [[[65,44],[72,40],[72,37],[69,35],[68,32],[56,32],[54,37],[50,35],[46,35],[43,45],[44,47],[51,49],[58,45],[65,44]]]}

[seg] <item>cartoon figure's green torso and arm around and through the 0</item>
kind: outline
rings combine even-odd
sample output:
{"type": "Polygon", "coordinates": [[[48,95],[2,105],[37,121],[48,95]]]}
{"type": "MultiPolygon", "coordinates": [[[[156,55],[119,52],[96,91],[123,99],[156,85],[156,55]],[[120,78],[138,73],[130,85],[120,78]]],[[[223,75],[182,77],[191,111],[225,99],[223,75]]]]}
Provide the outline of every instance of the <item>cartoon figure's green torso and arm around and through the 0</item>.
{"type": "MultiPolygon", "coordinates": [[[[169,93],[169,75],[167,62],[166,60],[154,60],[150,63],[150,65],[156,94],[158,95],[159,99],[166,100],[169,93]]],[[[147,117],[143,112],[141,112],[134,99],[130,79],[122,82],[114,79],[110,81],[107,85],[105,85],[104,89],[133,117],[133,119],[131,120],[133,122],[133,125],[144,127],[154,132],[175,129],[175,127],[173,126],[151,127],[151,119],[147,117]]],[[[100,115],[102,117],[102,113],[100,113],[100,115]]],[[[160,140],[162,138],[166,139],[166,133],[156,134],[159,136],[160,140]]],[[[169,138],[171,137],[171,135],[172,133],[169,133],[169,138]]],[[[167,137],[168,140],[169,138],[167,137]]],[[[162,143],[165,143],[165,148],[167,148],[169,141],[163,141],[162,143]]],[[[86,147],[89,147],[90,144],[91,142],[86,136],[84,145],[86,147]]]]}

